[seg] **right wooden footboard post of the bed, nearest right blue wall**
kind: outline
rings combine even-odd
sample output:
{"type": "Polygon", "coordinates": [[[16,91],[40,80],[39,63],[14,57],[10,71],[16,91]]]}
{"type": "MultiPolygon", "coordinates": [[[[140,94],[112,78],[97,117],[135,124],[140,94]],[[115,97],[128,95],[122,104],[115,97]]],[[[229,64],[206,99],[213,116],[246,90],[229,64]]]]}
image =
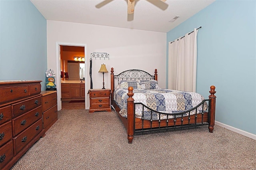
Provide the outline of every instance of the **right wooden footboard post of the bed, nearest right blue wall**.
{"type": "Polygon", "coordinates": [[[210,87],[210,96],[209,99],[211,99],[211,103],[210,103],[210,120],[209,120],[209,132],[212,133],[213,129],[214,129],[214,122],[215,122],[215,105],[216,105],[216,96],[214,95],[216,93],[215,91],[215,86],[212,85],[210,87]]]}

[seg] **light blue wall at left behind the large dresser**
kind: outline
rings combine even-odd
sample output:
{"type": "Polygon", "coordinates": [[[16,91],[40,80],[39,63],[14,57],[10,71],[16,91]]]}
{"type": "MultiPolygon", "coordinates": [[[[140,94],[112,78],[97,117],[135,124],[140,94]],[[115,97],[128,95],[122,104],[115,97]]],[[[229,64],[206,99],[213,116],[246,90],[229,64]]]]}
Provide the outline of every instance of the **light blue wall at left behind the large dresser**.
{"type": "Polygon", "coordinates": [[[0,0],[0,80],[42,80],[46,19],[29,0],[0,0]]]}

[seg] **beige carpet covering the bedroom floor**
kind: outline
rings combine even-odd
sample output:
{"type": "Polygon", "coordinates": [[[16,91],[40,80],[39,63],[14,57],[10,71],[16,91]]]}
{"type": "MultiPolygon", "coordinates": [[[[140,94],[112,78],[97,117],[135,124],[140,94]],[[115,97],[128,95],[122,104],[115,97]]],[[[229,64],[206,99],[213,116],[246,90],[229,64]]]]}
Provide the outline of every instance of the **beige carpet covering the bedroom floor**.
{"type": "Polygon", "coordinates": [[[256,140],[215,126],[137,134],[112,112],[62,110],[12,170],[256,169],[256,140]]]}

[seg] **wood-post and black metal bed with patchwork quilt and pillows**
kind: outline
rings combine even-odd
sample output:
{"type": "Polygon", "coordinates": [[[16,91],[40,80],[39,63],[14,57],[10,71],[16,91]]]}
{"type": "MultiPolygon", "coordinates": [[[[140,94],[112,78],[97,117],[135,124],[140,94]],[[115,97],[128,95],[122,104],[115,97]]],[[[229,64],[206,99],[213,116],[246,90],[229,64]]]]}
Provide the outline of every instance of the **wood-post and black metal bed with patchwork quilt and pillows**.
{"type": "Polygon", "coordinates": [[[130,69],[114,75],[111,68],[111,107],[127,129],[128,143],[134,134],[173,128],[208,125],[213,132],[215,121],[215,86],[209,99],[193,92],[161,89],[154,75],[130,69]]]}

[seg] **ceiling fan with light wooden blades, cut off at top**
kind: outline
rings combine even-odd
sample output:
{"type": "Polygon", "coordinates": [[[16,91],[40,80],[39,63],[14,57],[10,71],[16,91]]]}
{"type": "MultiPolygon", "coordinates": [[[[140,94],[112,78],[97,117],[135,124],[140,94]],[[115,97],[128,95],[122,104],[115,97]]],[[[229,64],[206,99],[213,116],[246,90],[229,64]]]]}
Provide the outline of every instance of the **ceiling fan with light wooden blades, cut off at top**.
{"type": "MultiPolygon", "coordinates": [[[[96,8],[101,8],[102,6],[108,4],[109,2],[111,2],[113,0],[104,0],[103,2],[99,3],[96,5],[96,8]]],[[[138,0],[126,0],[128,3],[128,8],[127,8],[127,13],[128,14],[133,14],[134,13],[134,6],[135,3],[138,0]],[[136,1],[136,2],[135,2],[136,1]]],[[[160,8],[161,10],[166,10],[168,7],[168,4],[165,3],[166,0],[147,0],[148,2],[152,3],[153,5],[157,6],[158,8],[160,8]]]]}

